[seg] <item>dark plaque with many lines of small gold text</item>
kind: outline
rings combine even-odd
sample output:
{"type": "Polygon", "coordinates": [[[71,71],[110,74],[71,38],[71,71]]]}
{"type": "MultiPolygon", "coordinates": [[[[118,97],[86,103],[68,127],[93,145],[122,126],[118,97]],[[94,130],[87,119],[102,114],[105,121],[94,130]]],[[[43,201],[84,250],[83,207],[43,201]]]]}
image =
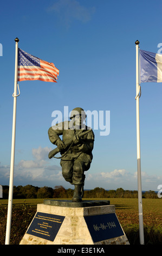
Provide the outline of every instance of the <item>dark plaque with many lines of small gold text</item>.
{"type": "Polygon", "coordinates": [[[30,224],[27,234],[54,241],[64,218],[64,216],[60,215],[37,212],[30,224]]]}

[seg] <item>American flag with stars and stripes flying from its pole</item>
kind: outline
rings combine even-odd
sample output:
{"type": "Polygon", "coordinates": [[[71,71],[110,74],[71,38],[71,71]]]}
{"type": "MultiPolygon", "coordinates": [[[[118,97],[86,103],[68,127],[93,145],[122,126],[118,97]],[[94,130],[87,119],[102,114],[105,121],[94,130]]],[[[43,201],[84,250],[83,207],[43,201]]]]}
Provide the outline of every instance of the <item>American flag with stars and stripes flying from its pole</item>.
{"type": "Polygon", "coordinates": [[[18,48],[17,81],[41,80],[56,82],[57,76],[59,76],[59,69],[53,63],[34,57],[18,48]]]}

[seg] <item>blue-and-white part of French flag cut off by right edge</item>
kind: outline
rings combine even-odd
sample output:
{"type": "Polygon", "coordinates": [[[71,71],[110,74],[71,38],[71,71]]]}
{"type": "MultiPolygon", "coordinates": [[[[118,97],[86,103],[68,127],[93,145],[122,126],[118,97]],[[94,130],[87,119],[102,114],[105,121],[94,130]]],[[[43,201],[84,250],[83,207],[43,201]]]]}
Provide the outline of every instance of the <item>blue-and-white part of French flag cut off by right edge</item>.
{"type": "Polygon", "coordinates": [[[140,50],[140,82],[162,82],[162,54],[140,50]]]}

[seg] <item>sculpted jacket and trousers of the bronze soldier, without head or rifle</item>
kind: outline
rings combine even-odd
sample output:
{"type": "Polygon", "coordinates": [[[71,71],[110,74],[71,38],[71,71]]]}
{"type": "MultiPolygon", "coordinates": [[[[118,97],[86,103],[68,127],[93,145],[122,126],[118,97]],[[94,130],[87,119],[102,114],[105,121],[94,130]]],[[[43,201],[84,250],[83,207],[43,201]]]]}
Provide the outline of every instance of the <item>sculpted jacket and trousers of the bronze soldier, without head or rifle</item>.
{"type": "MultiPolygon", "coordinates": [[[[50,142],[57,145],[62,135],[62,141],[68,142],[74,138],[75,135],[89,130],[89,127],[85,125],[84,129],[75,130],[70,121],[64,121],[56,126],[50,127],[48,130],[48,136],[50,142]],[[66,127],[66,129],[64,129],[66,127]]],[[[90,130],[86,135],[81,138],[78,144],[73,144],[72,147],[61,150],[61,167],[62,175],[66,181],[69,181],[74,185],[82,185],[84,179],[84,172],[90,168],[92,162],[94,145],[94,133],[90,130]],[[68,150],[69,149],[69,150],[68,150]]]]}

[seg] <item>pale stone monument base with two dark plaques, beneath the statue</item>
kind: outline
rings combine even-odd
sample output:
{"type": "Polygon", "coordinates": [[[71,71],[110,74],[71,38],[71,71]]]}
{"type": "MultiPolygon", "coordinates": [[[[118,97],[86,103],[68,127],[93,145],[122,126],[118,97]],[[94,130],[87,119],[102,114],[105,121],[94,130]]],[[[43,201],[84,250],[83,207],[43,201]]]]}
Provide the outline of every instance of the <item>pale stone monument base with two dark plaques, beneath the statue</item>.
{"type": "Polygon", "coordinates": [[[20,245],[128,245],[109,201],[44,200],[20,245]],[[90,206],[89,206],[90,205],[90,206]]]}

